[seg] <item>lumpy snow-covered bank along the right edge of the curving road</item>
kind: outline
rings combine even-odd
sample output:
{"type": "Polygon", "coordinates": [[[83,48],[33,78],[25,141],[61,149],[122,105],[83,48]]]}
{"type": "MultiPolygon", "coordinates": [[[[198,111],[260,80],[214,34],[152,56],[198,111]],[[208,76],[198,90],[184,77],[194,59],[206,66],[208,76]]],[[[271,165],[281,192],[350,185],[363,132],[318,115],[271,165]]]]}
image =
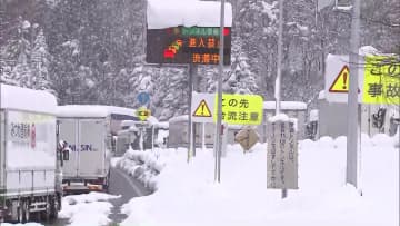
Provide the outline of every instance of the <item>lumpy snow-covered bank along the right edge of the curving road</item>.
{"type": "Polygon", "coordinates": [[[128,149],[116,165],[130,176],[139,179],[146,187],[156,190],[156,178],[164,168],[169,158],[173,156],[173,153],[174,149],[154,148],[154,151],[128,149]]]}

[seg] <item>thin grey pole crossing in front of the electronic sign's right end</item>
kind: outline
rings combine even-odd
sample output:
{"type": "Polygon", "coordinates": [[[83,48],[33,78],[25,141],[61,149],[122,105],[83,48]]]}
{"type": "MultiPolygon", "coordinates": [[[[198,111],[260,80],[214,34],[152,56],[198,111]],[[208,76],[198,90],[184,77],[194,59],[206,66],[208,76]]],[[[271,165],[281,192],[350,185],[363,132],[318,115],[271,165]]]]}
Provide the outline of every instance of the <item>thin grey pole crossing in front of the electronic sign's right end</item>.
{"type": "Polygon", "coordinates": [[[218,77],[218,107],[217,107],[217,155],[216,169],[218,183],[221,181],[221,121],[222,121],[222,76],[223,76],[223,27],[224,27],[224,0],[221,0],[221,19],[220,19],[220,46],[219,46],[219,77],[218,77]]]}

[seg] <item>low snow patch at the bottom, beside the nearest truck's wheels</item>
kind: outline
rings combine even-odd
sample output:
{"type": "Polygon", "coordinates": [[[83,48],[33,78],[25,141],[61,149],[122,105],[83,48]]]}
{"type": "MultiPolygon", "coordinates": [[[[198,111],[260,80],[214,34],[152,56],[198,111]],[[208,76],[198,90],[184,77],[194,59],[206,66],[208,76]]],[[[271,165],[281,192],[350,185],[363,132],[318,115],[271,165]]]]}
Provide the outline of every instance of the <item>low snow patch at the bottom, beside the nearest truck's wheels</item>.
{"type": "Polygon", "coordinates": [[[66,196],[62,198],[60,218],[69,218],[69,225],[108,225],[108,215],[113,207],[108,200],[120,198],[102,193],[66,196]]]}

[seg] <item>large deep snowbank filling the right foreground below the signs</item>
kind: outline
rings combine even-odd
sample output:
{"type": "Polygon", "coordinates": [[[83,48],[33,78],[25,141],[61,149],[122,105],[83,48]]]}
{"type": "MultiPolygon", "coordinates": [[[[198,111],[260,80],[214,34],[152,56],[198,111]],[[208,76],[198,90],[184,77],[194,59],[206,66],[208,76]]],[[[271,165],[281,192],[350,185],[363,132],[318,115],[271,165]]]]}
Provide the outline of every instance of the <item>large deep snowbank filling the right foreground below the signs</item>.
{"type": "MultiPolygon", "coordinates": [[[[213,181],[212,150],[187,164],[177,149],[157,178],[158,190],[122,207],[122,225],[152,226],[397,226],[399,150],[386,135],[362,136],[362,196],[346,185],[346,137],[299,143],[299,187],[281,199],[267,189],[267,145],[243,154],[229,146],[221,184],[213,181]]],[[[161,156],[163,155],[160,151],[161,156]]]]}

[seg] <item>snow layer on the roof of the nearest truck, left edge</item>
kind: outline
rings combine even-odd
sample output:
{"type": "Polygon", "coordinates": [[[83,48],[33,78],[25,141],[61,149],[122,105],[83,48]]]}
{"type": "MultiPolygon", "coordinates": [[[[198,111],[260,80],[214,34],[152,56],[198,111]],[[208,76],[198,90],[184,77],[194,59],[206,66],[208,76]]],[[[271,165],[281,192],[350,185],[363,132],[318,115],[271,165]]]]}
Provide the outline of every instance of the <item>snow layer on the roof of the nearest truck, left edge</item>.
{"type": "Polygon", "coordinates": [[[56,115],[57,99],[42,90],[0,83],[0,108],[56,115]]]}

